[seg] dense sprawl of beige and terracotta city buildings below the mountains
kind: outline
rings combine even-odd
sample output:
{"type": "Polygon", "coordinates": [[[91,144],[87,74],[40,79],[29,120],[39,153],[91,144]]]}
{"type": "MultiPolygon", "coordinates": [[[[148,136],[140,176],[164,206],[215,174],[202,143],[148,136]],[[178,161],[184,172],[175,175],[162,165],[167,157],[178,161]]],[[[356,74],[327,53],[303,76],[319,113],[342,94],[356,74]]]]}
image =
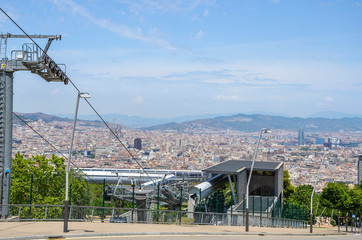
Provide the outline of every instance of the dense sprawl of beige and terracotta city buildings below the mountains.
{"type": "MultiPolygon", "coordinates": [[[[64,156],[69,154],[72,123],[39,120],[30,125],[64,156]]],[[[202,170],[225,160],[251,160],[258,138],[258,132],[229,129],[182,133],[111,126],[127,150],[105,127],[86,126],[80,122],[76,128],[72,159],[77,167],[139,168],[133,160],[135,158],[144,168],[202,170]]],[[[13,154],[20,152],[26,157],[36,154],[61,155],[25,125],[15,124],[13,139],[13,154]]],[[[358,132],[309,134],[303,129],[273,129],[271,134],[263,135],[256,160],[283,161],[294,186],[313,185],[325,154],[322,181],[316,188],[321,191],[328,182],[357,182],[360,142],[362,134],[358,132]]]]}

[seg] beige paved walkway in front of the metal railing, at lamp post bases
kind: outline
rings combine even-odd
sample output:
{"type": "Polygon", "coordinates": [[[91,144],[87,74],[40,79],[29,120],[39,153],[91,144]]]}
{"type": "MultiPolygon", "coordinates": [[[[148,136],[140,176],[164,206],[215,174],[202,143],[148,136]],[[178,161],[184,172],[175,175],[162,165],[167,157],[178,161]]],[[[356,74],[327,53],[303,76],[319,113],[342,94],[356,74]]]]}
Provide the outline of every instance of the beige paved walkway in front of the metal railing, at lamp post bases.
{"type": "MultiPolygon", "coordinates": [[[[0,222],[0,239],[32,239],[48,237],[74,238],[81,236],[125,236],[125,235],[174,235],[174,234],[204,234],[204,235],[298,235],[311,236],[308,229],[293,228],[260,228],[250,227],[245,232],[244,226],[198,226],[198,225],[161,225],[161,224],[131,224],[131,223],[92,223],[70,222],[69,232],[63,232],[63,222],[0,222]]],[[[337,235],[337,228],[314,228],[313,236],[337,235]]]]}

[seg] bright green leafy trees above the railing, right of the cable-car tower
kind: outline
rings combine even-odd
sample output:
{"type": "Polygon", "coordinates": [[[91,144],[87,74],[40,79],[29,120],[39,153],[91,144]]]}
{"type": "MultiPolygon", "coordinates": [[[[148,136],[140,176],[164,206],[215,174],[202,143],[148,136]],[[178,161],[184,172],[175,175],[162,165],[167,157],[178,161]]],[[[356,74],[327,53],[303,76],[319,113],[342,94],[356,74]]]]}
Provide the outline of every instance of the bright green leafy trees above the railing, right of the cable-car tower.
{"type": "MultiPolygon", "coordinates": [[[[33,176],[32,204],[63,204],[65,199],[65,167],[64,159],[55,155],[49,159],[39,155],[25,159],[24,155],[16,153],[11,167],[11,203],[30,203],[31,178],[33,176]]],[[[88,205],[87,185],[80,175],[71,172],[69,183],[72,186],[71,203],[73,205],[88,205]]]]}

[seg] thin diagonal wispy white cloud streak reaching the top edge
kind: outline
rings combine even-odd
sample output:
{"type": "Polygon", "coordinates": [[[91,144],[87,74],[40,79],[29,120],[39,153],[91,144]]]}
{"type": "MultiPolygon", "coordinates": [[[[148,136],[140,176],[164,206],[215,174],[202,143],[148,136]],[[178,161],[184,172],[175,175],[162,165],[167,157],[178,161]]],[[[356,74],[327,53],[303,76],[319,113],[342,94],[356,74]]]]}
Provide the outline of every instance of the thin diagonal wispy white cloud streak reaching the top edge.
{"type": "MultiPolygon", "coordinates": [[[[99,27],[117,33],[122,37],[141,40],[144,42],[150,42],[170,50],[177,49],[176,47],[172,46],[169,42],[167,42],[164,39],[158,38],[157,36],[145,35],[142,32],[141,28],[133,29],[126,26],[125,24],[117,24],[106,18],[94,17],[85,7],[76,4],[72,0],[51,0],[51,1],[59,8],[64,8],[64,6],[66,6],[68,8],[67,10],[70,9],[71,11],[73,11],[73,13],[81,15],[82,17],[88,19],[88,21],[98,25],[99,27]]],[[[151,30],[150,32],[152,34],[152,32],[154,31],[151,30]]]]}

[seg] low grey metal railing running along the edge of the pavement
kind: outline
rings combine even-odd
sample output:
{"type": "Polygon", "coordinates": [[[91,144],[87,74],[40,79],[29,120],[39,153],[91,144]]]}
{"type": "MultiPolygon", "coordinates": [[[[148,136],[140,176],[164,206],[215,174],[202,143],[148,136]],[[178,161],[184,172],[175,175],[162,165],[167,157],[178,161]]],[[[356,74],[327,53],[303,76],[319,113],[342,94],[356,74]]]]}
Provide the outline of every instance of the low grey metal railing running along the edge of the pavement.
{"type": "MultiPolygon", "coordinates": [[[[62,221],[63,205],[0,205],[8,207],[10,216],[1,221],[62,221]]],[[[137,208],[70,206],[69,221],[119,222],[182,225],[245,225],[243,213],[205,213],[137,208]]],[[[251,226],[306,228],[306,222],[295,219],[250,216],[251,226]]]]}

